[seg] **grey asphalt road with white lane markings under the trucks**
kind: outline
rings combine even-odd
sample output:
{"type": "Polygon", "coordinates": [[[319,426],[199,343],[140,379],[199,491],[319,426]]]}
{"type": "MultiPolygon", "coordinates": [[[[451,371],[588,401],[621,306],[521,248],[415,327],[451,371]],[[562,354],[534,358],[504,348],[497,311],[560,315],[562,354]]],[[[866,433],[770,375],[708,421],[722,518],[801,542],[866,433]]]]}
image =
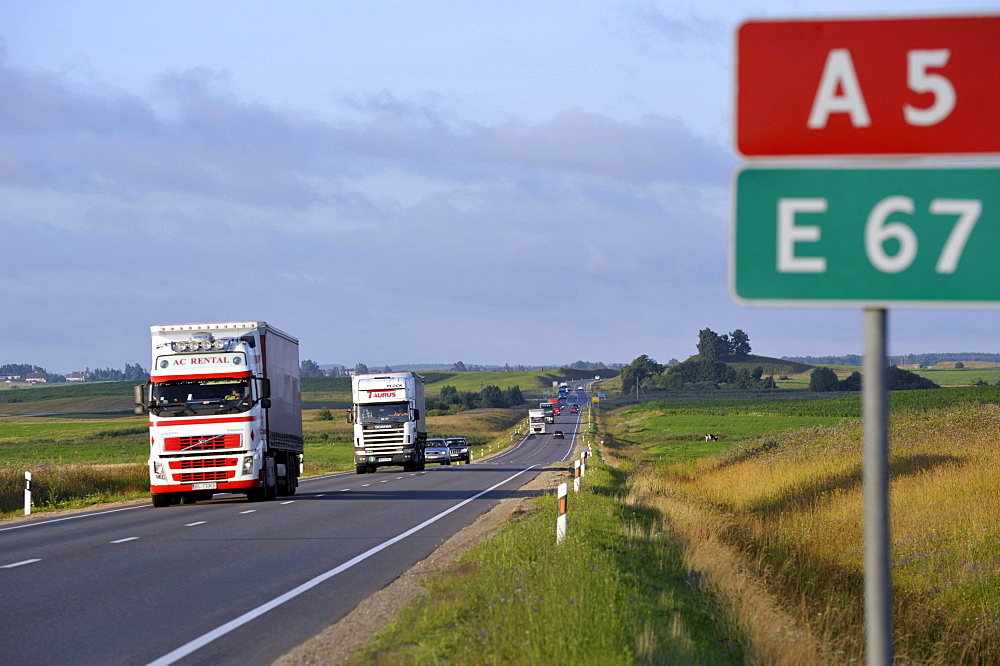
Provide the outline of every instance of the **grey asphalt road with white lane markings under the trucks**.
{"type": "Polygon", "coordinates": [[[270,663],[568,460],[579,417],[556,421],[472,465],[305,478],[272,502],[220,495],[0,526],[0,663],[270,663]]]}

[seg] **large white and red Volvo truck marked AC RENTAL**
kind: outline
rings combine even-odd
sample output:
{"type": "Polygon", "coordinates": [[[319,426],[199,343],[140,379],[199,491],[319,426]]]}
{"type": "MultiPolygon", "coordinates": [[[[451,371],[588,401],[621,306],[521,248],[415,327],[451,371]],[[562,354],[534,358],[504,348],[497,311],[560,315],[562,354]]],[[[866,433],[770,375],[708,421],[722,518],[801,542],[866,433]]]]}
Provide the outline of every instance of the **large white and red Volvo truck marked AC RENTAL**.
{"type": "Polygon", "coordinates": [[[150,326],[153,506],[243,493],[294,495],[302,467],[299,341],[266,322],[150,326]]]}

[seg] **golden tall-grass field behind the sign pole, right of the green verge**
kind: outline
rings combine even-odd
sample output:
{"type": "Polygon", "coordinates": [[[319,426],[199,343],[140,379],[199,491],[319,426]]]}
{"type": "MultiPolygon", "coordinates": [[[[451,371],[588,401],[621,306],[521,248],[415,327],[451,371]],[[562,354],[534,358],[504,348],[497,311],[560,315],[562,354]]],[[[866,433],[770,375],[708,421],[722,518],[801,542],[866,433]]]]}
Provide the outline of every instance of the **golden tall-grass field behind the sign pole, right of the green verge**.
{"type": "MultiPolygon", "coordinates": [[[[771,423],[778,430],[755,437],[745,426],[747,406],[712,402],[700,409],[670,412],[673,403],[655,403],[604,414],[606,457],[665,520],[681,525],[697,516],[696,535],[712,534],[743,553],[739,566],[763,581],[796,631],[815,638],[824,659],[862,661],[862,444],[860,419],[850,414],[855,406],[845,398],[761,401],[762,417],[788,417],[801,407],[796,419],[806,427],[776,418],[771,423]],[[695,437],[705,422],[690,418],[699,411],[713,415],[716,429],[736,433],[730,442],[713,443],[720,449],[715,455],[700,457],[703,443],[695,437]],[[685,428],[691,448],[664,456],[667,438],[679,446],[685,428]]],[[[900,662],[993,663],[1000,654],[998,403],[995,387],[892,394],[893,617],[900,662]]],[[[696,552],[697,543],[691,548],[696,552]]],[[[720,600],[731,609],[730,621],[753,635],[753,613],[740,611],[741,603],[720,600]]],[[[791,663],[781,656],[771,661],[791,663]]]]}

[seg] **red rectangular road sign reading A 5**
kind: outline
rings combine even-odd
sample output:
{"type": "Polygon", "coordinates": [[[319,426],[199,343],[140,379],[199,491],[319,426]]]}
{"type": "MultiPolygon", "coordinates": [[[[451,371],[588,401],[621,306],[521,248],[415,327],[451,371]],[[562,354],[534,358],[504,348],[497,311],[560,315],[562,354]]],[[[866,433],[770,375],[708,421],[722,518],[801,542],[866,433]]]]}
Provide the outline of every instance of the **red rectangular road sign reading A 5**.
{"type": "Polygon", "coordinates": [[[747,157],[1000,153],[1000,16],[748,21],[747,157]]]}

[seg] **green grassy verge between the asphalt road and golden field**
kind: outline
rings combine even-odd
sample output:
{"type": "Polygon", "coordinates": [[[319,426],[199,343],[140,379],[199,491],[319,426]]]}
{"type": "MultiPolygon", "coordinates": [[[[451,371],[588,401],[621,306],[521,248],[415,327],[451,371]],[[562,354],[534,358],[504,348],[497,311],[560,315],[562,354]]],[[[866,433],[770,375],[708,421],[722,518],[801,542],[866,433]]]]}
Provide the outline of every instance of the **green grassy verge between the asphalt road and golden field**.
{"type": "Polygon", "coordinates": [[[669,526],[594,461],[571,489],[562,544],[546,493],[428,581],[350,663],[744,663],[669,526]]]}

